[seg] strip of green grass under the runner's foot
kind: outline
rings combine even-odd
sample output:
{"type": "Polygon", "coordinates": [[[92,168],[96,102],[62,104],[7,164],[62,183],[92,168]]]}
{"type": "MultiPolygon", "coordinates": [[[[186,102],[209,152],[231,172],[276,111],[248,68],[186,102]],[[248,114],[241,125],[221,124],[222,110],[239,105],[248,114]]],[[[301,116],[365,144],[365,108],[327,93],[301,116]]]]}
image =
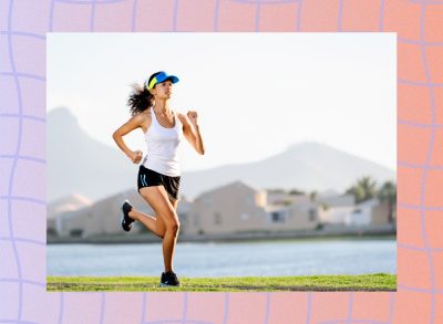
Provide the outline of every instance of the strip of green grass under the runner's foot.
{"type": "Polygon", "coordinates": [[[181,288],[161,288],[156,276],[48,276],[48,291],[395,291],[395,274],[179,278],[181,288]]]}

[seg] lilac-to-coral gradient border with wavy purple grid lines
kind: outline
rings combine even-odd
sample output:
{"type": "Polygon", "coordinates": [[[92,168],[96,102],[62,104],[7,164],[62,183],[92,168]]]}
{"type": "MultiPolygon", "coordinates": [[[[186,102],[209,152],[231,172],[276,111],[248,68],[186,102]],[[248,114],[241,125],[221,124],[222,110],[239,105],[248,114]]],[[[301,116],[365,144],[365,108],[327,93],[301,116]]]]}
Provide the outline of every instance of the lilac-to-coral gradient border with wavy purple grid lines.
{"type": "Polygon", "coordinates": [[[0,323],[443,323],[442,0],[0,0],[0,323]],[[52,31],[396,32],[398,292],[47,293],[52,31]]]}

